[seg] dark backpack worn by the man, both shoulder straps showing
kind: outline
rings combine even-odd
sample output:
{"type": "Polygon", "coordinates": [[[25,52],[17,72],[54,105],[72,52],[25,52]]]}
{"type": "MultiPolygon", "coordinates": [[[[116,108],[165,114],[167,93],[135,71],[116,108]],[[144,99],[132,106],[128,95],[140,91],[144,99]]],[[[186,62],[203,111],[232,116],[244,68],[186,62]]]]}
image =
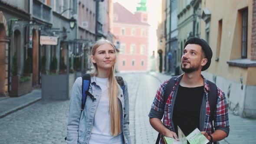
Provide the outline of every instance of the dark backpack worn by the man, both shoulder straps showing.
{"type": "MultiPolygon", "coordinates": [[[[178,76],[171,77],[171,79],[168,81],[167,85],[165,86],[164,106],[166,105],[167,99],[169,98],[169,96],[171,94],[171,91],[173,90],[173,87],[176,83],[175,79],[177,77],[178,76]]],[[[215,112],[215,108],[216,108],[216,105],[217,105],[217,99],[218,99],[217,86],[213,82],[210,82],[208,80],[207,80],[207,82],[208,82],[208,85],[210,87],[210,91],[208,92],[208,101],[209,101],[209,104],[210,104],[210,123],[212,124],[211,131],[213,133],[214,132],[214,129],[213,129],[213,115],[214,115],[214,112],[215,112]]],[[[158,133],[158,138],[157,138],[156,144],[159,144],[160,137],[161,137],[161,134],[158,133]]]]}

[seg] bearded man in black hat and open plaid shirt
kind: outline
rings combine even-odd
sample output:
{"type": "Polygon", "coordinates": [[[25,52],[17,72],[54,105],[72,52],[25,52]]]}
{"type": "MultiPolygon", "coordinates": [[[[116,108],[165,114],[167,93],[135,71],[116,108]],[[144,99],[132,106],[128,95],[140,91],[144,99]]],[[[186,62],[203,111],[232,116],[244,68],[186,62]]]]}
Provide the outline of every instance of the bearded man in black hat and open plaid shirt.
{"type": "MultiPolygon", "coordinates": [[[[177,126],[185,136],[198,128],[212,143],[220,141],[229,134],[228,110],[224,92],[217,88],[216,105],[214,105],[214,129],[210,122],[210,89],[201,71],[208,69],[212,50],[207,42],[197,37],[187,40],[181,57],[181,69],[184,73],[174,79],[174,87],[164,104],[164,92],[169,80],[161,84],[154,98],[149,121],[151,126],[161,134],[160,144],[164,144],[163,135],[177,139],[177,126]],[[163,123],[161,119],[163,118],[163,123]]],[[[216,89],[215,89],[216,90],[216,89]]]]}

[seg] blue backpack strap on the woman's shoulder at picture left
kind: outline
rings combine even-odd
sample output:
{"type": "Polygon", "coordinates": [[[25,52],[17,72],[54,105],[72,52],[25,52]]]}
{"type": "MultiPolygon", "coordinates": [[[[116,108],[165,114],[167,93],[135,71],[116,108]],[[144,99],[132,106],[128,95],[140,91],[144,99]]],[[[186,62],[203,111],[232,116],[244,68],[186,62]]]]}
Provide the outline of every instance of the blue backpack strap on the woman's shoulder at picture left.
{"type": "Polygon", "coordinates": [[[89,87],[91,84],[91,75],[89,73],[82,76],[82,105],[81,105],[81,111],[85,108],[85,102],[86,102],[86,91],[89,91],[89,87]]]}

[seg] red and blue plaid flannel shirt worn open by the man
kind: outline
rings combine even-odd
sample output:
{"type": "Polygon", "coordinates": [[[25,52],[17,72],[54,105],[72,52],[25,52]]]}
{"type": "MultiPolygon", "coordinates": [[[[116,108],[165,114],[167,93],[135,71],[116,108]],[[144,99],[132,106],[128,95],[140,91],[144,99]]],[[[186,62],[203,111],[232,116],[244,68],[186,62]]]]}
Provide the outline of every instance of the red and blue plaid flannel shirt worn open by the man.
{"type": "MultiPolygon", "coordinates": [[[[171,131],[174,131],[174,127],[172,126],[172,120],[171,118],[171,114],[173,111],[173,105],[174,103],[172,103],[173,97],[174,97],[174,91],[177,88],[177,85],[179,85],[179,82],[182,78],[183,74],[178,76],[175,81],[175,85],[173,87],[173,90],[171,91],[170,96],[168,97],[167,101],[166,101],[166,105],[163,105],[163,101],[164,101],[164,90],[166,88],[166,85],[169,81],[166,80],[164,81],[164,83],[162,83],[160,85],[160,88],[158,88],[158,91],[155,95],[153,104],[151,106],[151,109],[154,109],[155,111],[164,112],[164,119],[163,119],[163,124],[166,128],[168,128],[171,131]]],[[[208,134],[211,134],[211,123],[210,123],[210,104],[208,101],[208,91],[210,90],[210,87],[208,85],[207,80],[203,77],[203,75],[201,75],[203,78],[203,82],[204,82],[204,96],[206,96],[206,115],[204,118],[204,125],[203,125],[203,131],[206,131],[208,134]]],[[[215,130],[220,129],[225,131],[227,134],[229,134],[229,118],[228,118],[228,108],[227,108],[227,103],[226,103],[226,98],[225,98],[225,94],[224,92],[222,92],[220,90],[220,88],[217,88],[217,95],[218,95],[218,99],[217,99],[217,105],[216,105],[216,110],[215,110],[215,114],[213,116],[213,121],[214,121],[214,128],[215,130]]],[[[203,104],[202,104],[203,105],[203,104]]],[[[149,117],[150,114],[149,114],[149,117]]],[[[160,144],[164,144],[164,139],[163,136],[161,135],[161,139],[160,139],[160,144]]]]}

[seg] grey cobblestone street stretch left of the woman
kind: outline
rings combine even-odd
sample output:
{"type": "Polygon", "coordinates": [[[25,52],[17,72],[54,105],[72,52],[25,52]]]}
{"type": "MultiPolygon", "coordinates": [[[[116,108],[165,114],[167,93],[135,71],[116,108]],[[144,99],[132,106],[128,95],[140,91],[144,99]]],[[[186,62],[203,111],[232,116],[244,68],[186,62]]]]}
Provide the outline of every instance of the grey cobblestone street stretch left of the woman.
{"type": "Polygon", "coordinates": [[[39,101],[0,119],[0,144],[65,144],[69,101],[39,101]]]}

